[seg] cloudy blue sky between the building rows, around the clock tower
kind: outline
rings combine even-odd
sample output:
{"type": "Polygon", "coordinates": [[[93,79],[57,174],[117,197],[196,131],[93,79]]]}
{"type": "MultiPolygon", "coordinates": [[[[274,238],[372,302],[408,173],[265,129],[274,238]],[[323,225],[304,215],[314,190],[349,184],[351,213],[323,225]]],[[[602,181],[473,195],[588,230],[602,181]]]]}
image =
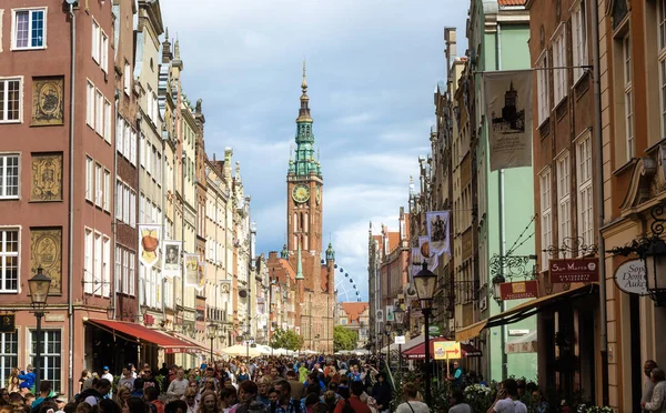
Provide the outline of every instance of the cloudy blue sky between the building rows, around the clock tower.
{"type": "MultiPolygon", "coordinates": [[[[433,93],[446,77],[444,28],[466,49],[467,0],[161,0],[190,101],[203,99],[205,150],[233,149],[252,197],[256,252],[280,251],[302,62],[324,178],[324,245],[367,300],[367,236],[397,231],[410,175],[430,151],[433,93]]],[[[336,276],[340,273],[336,273],[336,276]]],[[[336,284],[339,282],[336,281],[336,284]]],[[[353,299],[340,282],[339,300],[353,299]]]]}

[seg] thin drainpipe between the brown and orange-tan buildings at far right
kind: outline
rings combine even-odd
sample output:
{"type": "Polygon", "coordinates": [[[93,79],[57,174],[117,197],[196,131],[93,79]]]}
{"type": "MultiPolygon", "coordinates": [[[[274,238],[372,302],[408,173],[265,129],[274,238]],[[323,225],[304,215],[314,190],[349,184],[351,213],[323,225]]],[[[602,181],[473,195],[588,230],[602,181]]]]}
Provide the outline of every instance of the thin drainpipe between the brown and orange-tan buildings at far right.
{"type": "Polygon", "coordinates": [[[601,318],[601,343],[602,355],[602,404],[608,405],[608,335],[607,335],[607,315],[606,315],[606,242],[602,233],[604,226],[604,147],[602,142],[602,74],[601,53],[599,53],[599,4],[597,0],[592,0],[592,59],[593,59],[593,87],[594,87],[594,145],[596,150],[595,159],[595,185],[596,185],[596,212],[597,212],[597,251],[599,255],[599,318],[601,318]]]}

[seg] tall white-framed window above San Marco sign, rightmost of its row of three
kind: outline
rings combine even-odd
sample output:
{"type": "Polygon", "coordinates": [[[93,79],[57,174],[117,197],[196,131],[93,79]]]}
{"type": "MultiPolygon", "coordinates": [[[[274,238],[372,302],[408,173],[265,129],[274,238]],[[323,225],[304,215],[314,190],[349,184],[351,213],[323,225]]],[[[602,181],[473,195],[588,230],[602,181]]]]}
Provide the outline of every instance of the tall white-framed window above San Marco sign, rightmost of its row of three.
{"type": "Polygon", "coordinates": [[[594,243],[594,216],[592,194],[592,152],[589,135],[576,144],[576,178],[578,181],[578,236],[585,245],[594,243]]]}

